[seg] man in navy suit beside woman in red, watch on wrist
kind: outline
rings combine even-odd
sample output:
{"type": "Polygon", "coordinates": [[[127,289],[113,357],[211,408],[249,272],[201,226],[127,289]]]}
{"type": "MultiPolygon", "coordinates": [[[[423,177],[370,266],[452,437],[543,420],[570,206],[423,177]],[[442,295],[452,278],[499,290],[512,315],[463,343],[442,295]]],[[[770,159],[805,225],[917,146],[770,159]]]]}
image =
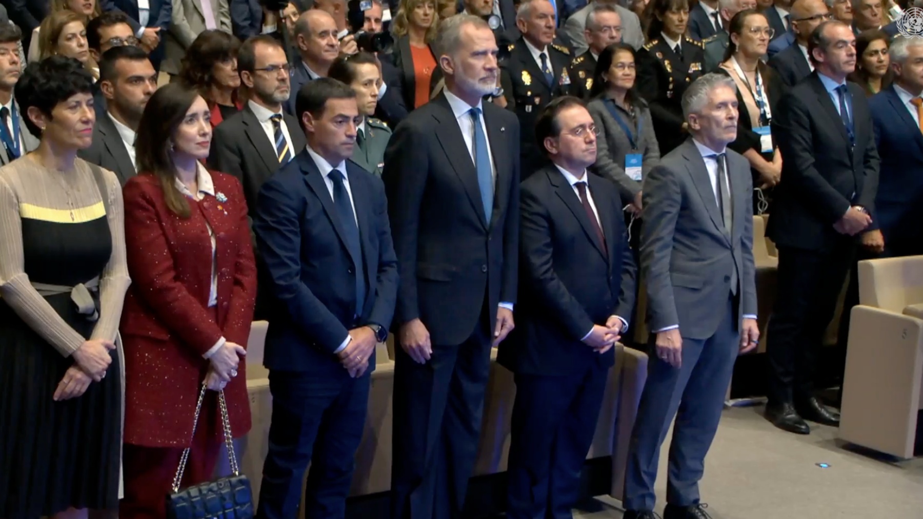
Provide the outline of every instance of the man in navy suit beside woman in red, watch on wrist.
{"type": "MultiPolygon", "coordinates": [[[[266,336],[272,425],[257,516],[342,517],[366,422],[375,346],[398,289],[384,186],[349,160],[352,88],[298,93],[307,147],[259,192],[254,230],[279,311],[266,336]]],[[[293,128],[294,130],[294,128],[293,128]]]]}

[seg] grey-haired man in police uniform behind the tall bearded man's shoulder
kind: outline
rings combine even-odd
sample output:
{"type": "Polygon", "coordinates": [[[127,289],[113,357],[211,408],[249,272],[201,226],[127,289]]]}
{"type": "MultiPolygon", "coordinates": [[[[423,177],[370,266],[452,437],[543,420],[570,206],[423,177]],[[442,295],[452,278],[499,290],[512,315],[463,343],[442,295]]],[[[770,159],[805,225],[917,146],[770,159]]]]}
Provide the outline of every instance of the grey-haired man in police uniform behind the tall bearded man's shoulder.
{"type": "Polygon", "coordinates": [[[536,171],[546,159],[535,146],[535,120],[550,100],[570,93],[572,78],[567,47],[555,40],[555,10],[548,0],[525,0],[516,13],[522,33],[500,64],[507,108],[520,121],[520,157],[523,176],[536,171]]]}

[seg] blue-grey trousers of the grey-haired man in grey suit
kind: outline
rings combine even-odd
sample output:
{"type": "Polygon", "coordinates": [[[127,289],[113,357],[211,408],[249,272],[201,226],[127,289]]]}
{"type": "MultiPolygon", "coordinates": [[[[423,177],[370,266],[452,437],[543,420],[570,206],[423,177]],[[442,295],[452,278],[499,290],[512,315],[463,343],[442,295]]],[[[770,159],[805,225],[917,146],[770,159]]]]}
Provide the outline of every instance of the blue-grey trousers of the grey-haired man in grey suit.
{"type": "Polygon", "coordinates": [[[631,431],[622,500],[626,510],[653,511],[660,446],[674,416],[677,420],[670,442],[666,502],[677,506],[699,502],[705,454],[718,430],[740,348],[736,306],[728,298],[725,318],[710,338],[682,337],[679,369],[657,357],[652,337],[647,382],[631,431]]]}

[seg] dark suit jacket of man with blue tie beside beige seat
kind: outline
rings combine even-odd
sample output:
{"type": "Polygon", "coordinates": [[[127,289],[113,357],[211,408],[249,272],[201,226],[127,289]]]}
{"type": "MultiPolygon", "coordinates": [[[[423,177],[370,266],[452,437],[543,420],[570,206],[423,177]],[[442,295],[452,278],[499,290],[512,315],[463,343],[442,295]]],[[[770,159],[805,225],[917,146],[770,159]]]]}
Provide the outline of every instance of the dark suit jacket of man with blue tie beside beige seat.
{"type": "Polygon", "coordinates": [[[847,85],[855,146],[817,72],[789,89],[773,113],[783,181],[775,187],[767,232],[780,247],[830,249],[845,239],[833,224],[850,206],[865,206],[870,229],[877,225],[879,156],[869,100],[857,84],[847,85]]]}

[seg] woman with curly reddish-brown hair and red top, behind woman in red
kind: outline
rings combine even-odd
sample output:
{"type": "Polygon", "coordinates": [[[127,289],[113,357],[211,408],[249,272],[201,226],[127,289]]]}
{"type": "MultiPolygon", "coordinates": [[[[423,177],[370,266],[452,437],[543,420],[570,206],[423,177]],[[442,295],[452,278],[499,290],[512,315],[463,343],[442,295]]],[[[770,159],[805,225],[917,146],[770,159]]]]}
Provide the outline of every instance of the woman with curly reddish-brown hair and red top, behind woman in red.
{"type": "Polygon", "coordinates": [[[211,110],[212,127],[240,112],[244,100],[240,95],[237,53],[240,41],[223,30],[203,30],[183,57],[180,80],[196,88],[211,110]]]}

